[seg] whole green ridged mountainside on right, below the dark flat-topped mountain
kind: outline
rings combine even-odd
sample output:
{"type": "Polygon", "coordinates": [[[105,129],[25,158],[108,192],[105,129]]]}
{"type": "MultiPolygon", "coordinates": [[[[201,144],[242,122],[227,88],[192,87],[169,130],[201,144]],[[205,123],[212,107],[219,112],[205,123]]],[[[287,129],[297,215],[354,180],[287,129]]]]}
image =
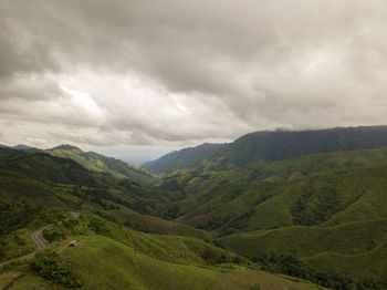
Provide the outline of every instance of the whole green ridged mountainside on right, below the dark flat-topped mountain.
{"type": "Polygon", "coordinates": [[[216,232],[216,245],[270,271],[312,281],[325,273],[359,289],[385,289],[386,147],[222,172],[200,166],[158,184],[185,194],[160,208],[161,216],[216,232]]]}

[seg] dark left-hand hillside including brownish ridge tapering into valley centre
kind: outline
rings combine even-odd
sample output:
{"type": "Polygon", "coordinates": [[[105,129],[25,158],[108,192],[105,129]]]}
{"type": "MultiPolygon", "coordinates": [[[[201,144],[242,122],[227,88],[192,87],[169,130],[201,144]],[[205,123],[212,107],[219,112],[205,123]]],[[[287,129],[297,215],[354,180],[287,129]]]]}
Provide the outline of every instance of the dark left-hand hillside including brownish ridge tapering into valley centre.
{"type": "Polygon", "coordinates": [[[0,201],[86,209],[144,231],[209,238],[202,230],[149,216],[174,198],[176,194],[90,172],[72,159],[0,149],[0,201]]]}

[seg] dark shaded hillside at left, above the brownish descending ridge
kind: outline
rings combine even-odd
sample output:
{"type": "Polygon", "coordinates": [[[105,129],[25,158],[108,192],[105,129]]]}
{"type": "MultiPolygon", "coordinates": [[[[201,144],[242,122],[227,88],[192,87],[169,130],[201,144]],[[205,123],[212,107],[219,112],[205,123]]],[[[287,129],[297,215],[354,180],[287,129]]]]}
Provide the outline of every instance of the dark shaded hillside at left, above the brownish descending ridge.
{"type": "MultiPolygon", "coordinates": [[[[175,198],[175,195],[139,186],[129,179],[117,179],[90,172],[72,159],[42,153],[19,153],[14,156],[13,152],[0,151],[0,198],[24,198],[36,203],[42,199],[42,204],[45,205],[65,206],[69,200],[61,203],[55,190],[55,187],[63,184],[94,188],[87,190],[86,198],[94,196],[111,199],[140,213],[153,213],[159,204],[175,198]],[[52,200],[49,200],[50,198],[52,200]]],[[[66,190],[65,186],[62,186],[59,191],[69,189],[72,191],[76,188],[66,190]]],[[[65,194],[61,196],[64,197],[65,194]]]]}

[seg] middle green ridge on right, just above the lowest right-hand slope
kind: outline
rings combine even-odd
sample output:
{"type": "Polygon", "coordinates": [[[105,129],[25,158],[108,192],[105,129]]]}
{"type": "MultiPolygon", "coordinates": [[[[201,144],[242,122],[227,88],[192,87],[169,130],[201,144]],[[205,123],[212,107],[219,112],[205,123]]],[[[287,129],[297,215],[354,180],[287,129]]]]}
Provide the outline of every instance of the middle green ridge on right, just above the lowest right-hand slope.
{"type": "Polygon", "coordinates": [[[387,166],[315,174],[296,180],[224,183],[168,205],[187,225],[240,230],[387,217],[387,166]]]}

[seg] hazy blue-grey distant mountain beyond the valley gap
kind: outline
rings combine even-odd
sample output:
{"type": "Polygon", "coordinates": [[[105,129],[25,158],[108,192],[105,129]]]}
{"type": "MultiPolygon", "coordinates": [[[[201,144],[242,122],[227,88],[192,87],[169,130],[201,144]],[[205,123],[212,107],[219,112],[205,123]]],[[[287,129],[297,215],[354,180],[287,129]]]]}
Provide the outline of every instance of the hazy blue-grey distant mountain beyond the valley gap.
{"type": "Polygon", "coordinates": [[[143,164],[142,167],[155,174],[169,174],[178,169],[190,167],[209,158],[226,145],[227,144],[205,143],[196,147],[175,151],[156,160],[147,162],[143,164]]]}

